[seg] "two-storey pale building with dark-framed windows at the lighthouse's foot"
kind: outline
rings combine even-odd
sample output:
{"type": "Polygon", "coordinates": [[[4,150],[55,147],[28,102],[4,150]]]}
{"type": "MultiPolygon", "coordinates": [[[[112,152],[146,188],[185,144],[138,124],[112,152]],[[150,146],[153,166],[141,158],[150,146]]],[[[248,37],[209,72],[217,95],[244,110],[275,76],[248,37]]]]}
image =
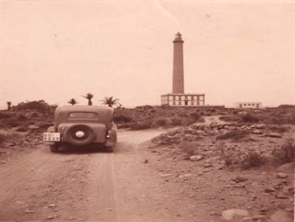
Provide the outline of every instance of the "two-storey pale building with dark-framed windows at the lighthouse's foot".
{"type": "Polygon", "coordinates": [[[164,94],[161,105],[167,106],[205,106],[205,94],[164,94]]]}

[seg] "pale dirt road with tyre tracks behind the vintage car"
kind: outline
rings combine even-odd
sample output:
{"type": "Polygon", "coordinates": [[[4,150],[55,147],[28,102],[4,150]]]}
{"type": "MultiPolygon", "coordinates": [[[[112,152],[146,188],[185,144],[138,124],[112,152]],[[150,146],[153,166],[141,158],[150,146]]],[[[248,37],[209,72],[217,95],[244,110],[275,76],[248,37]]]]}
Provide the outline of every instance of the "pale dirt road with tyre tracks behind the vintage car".
{"type": "Polygon", "coordinates": [[[161,132],[119,132],[114,153],[42,145],[1,165],[0,221],[177,221],[139,146],[161,132]]]}

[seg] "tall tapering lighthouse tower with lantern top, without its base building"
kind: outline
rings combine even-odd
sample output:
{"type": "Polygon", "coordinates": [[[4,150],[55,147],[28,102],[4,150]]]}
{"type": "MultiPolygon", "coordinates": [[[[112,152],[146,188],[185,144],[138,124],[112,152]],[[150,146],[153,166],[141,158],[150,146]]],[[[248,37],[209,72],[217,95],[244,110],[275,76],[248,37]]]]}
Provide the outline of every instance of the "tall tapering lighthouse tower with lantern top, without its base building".
{"type": "Polygon", "coordinates": [[[173,49],[173,94],[184,94],[183,75],[183,40],[181,34],[177,32],[173,49]]]}

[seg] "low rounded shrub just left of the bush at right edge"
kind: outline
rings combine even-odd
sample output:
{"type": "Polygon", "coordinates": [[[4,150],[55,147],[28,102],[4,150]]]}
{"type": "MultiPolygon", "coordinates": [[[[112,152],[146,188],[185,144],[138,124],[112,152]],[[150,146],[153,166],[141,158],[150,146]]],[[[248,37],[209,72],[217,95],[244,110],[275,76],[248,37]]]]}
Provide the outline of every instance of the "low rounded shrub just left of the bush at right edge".
{"type": "Polygon", "coordinates": [[[241,158],[240,167],[242,170],[248,170],[251,168],[260,167],[264,163],[266,163],[266,158],[264,155],[250,151],[241,158]]]}

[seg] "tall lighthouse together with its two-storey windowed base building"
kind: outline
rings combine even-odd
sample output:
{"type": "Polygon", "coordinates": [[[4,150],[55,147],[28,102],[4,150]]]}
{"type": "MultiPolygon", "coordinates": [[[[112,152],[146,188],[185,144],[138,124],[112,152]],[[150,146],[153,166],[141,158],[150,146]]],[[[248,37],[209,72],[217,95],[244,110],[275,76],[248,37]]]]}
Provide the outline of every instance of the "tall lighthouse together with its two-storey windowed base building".
{"type": "Polygon", "coordinates": [[[162,106],[204,106],[205,94],[184,93],[183,40],[177,32],[173,41],[172,93],[161,95],[162,106]]]}

